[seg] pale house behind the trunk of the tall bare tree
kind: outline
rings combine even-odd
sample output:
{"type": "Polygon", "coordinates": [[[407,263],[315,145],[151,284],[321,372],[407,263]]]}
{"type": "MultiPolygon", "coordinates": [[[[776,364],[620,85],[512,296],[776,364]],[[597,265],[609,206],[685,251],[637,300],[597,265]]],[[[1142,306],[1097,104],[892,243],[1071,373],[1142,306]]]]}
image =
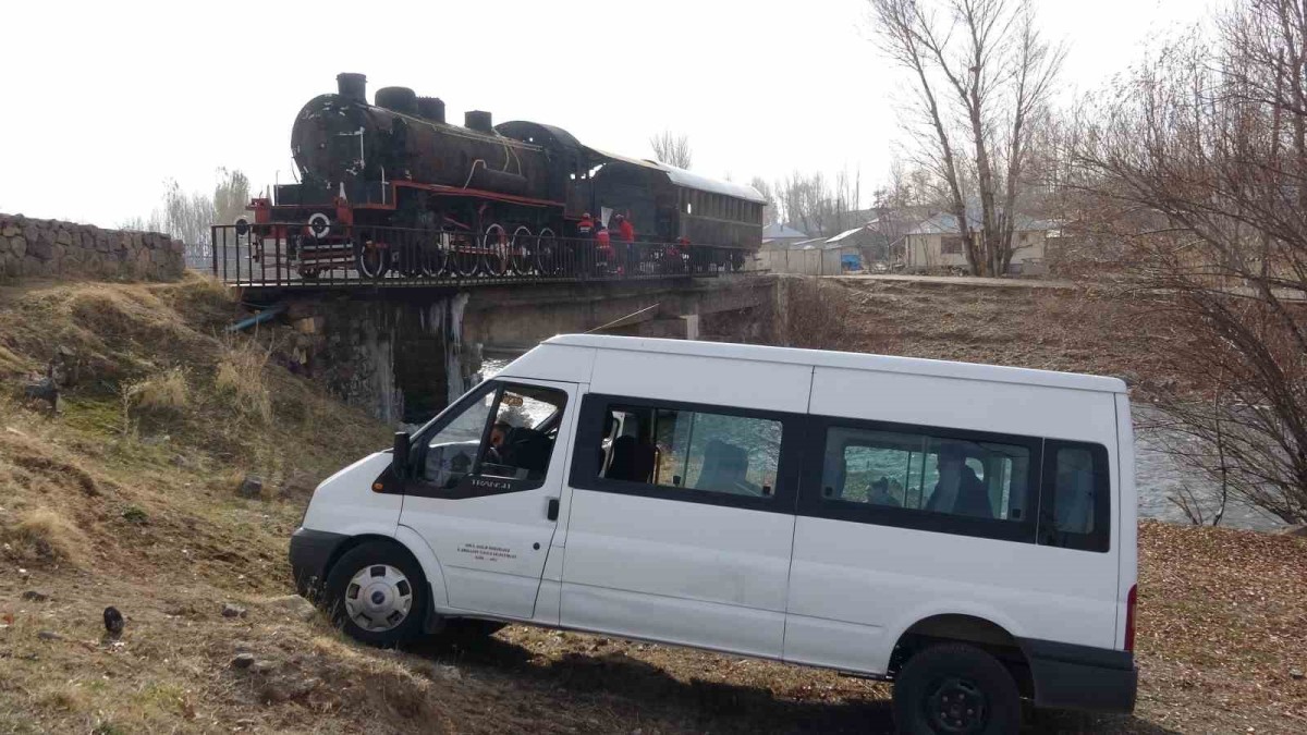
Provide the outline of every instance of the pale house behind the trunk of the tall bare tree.
{"type": "MultiPolygon", "coordinates": [[[[968,211],[967,220],[972,237],[980,237],[978,231],[980,213],[968,211]]],[[[1047,272],[1044,245],[1051,229],[1048,222],[1017,214],[1016,228],[1012,233],[1013,254],[1008,265],[1009,273],[1043,275],[1047,272]]],[[[903,239],[903,265],[908,272],[967,269],[967,255],[958,218],[950,213],[941,212],[927,217],[911,228],[903,239]]]]}

